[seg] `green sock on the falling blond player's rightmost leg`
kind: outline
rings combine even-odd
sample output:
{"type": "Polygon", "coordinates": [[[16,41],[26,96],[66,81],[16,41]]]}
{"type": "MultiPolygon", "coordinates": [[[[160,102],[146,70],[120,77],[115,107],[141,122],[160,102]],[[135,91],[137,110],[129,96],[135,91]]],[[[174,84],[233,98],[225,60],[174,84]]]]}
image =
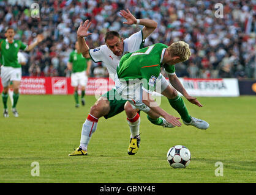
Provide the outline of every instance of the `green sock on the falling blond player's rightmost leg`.
{"type": "Polygon", "coordinates": [[[187,111],[186,105],[179,95],[175,99],[168,99],[171,107],[175,108],[175,110],[181,115],[181,119],[185,122],[190,122],[191,117],[189,112],[187,111]]]}

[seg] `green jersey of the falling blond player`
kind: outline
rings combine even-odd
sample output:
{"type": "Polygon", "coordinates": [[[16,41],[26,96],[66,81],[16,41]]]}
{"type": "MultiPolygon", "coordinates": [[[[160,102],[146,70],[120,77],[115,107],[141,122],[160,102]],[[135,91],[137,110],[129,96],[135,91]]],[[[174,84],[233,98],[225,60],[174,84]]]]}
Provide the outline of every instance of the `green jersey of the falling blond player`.
{"type": "MultiPolygon", "coordinates": [[[[136,52],[124,55],[116,69],[120,80],[143,79],[143,87],[153,91],[156,79],[159,77],[160,68],[163,66],[167,45],[162,43],[152,44],[136,52]]],[[[164,65],[168,73],[174,73],[174,65],[164,65]]]]}

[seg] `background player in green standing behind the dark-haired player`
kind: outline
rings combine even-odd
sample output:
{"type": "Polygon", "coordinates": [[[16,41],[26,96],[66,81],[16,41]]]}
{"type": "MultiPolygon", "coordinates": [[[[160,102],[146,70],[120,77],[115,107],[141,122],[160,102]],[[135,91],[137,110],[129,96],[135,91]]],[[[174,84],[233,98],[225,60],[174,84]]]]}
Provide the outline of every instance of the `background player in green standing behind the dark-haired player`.
{"type": "Polygon", "coordinates": [[[88,82],[89,71],[91,69],[91,60],[85,59],[79,49],[78,41],[75,43],[75,50],[69,55],[67,68],[72,70],[71,86],[74,89],[75,107],[79,107],[78,85],[81,86],[81,104],[85,105],[85,87],[88,82]]]}

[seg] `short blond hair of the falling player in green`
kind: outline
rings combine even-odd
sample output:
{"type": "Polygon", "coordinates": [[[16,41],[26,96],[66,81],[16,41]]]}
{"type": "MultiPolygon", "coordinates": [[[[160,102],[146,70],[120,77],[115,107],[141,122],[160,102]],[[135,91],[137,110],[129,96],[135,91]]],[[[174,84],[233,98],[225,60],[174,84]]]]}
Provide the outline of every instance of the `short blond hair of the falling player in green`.
{"type": "Polygon", "coordinates": [[[184,41],[172,43],[170,46],[168,46],[167,50],[171,57],[178,56],[182,62],[188,60],[191,55],[189,44],[184,41]]]}

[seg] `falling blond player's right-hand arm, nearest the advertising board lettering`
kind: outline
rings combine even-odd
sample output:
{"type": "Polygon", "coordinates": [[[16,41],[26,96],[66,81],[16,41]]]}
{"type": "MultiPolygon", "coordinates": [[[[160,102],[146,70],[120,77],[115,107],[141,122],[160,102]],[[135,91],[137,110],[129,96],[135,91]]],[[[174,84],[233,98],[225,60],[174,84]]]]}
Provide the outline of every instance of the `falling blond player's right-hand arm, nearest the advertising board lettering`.
{"type": "Polygon", "coordinates": [[[169,80],[171,85],[179,91],[183,96],[187,99],[187,101],[191,102],[192,104],[197,105],[198,107],[203,107],[203,105],[197,100],[197,98],[190,96],[185,88],[183,87],[182,83],[179,81],[176,74],[168,74],[169,80]]]}

